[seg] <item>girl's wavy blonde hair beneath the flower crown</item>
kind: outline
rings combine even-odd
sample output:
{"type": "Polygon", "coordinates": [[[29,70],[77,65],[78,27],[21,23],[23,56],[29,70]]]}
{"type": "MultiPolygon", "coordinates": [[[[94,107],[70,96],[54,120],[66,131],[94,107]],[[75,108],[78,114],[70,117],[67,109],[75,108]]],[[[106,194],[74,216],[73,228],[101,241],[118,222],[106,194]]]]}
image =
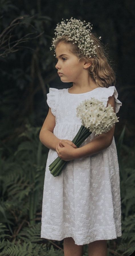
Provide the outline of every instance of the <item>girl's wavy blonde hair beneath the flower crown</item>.
{"type": "Polygon", "coordinates": [[[74,41],[69,41],[68,36],[64,35],[56,38],[54,40],[54,45],[56,49],[60,42],[70,44],[71,52],[75,54],[79,60],[85,59],[87,62],[91,62],[88,72],[91,78],[96,82],[97,86],[109,87],[115,85],[115,74],[111,65],[109,64],[107,53],[105,53],[105,46],[99,42],[99,39],[97,39],[94,34],[91,34],[91,39],[94,41],[93,44],[100,46],[95,49],[96,55],[91,56],[91,58],[83,56],[77,44],[74,43],[74,41]]]}

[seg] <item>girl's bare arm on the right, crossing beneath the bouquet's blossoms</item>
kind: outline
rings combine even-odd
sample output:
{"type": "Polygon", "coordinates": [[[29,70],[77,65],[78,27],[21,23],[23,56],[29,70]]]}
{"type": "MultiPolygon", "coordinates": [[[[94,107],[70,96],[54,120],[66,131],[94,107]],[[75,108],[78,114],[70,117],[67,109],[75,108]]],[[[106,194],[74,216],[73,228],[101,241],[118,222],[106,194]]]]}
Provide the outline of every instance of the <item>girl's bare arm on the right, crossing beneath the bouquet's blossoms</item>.
{"type": "MultiPolygon", "coordinates": [[[[115,112],[115,101],[114,96],[109,97],[107,106],[111,104],[115,112]]],[[[103,133],[95,137],[92,141],[79,148],[70,148],[66,142],[59,142],[56,145],[58,155],[65,161],[85,157],[88,155],[96,154],[103,149],[109,147],[112,143],[115,126],[112,127],[107,133],[103,133]]]]}

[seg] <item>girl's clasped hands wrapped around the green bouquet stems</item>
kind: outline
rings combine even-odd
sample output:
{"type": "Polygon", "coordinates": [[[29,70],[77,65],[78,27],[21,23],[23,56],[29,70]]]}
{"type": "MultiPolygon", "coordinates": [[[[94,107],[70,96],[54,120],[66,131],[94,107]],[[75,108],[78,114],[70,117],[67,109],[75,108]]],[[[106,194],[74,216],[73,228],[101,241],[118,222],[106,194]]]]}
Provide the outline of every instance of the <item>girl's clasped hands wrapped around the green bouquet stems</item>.
{"type": "Polygon", "coordinates": [[[75,156],[75,144],[70,141],[70,144],[66,142],[66,140],[61,140],[56,144],[56,151],[58,156],[64,161],[70,161],[74,159],[75,156]]]}

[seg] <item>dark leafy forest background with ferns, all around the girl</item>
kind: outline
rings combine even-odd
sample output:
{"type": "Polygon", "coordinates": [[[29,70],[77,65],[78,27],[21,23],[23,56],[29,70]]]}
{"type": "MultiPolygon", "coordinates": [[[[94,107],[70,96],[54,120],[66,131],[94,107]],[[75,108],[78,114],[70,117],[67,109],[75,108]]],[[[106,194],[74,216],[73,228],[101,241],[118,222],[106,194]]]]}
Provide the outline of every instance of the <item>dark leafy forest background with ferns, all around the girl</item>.
{"type": "Polygon", "coordinates": [[[71,17],[93,24],[116,73],[122,101],[115,130],[122,237],[108,241],[108,255],[135,250],[134,5],[131,0],[0,1],[0,255],[64,255],[63,241],[40,239],[48,149],[39,131],[49,87],[70,86],[57,77],[49,47],[56,23],[71,17]]]}

